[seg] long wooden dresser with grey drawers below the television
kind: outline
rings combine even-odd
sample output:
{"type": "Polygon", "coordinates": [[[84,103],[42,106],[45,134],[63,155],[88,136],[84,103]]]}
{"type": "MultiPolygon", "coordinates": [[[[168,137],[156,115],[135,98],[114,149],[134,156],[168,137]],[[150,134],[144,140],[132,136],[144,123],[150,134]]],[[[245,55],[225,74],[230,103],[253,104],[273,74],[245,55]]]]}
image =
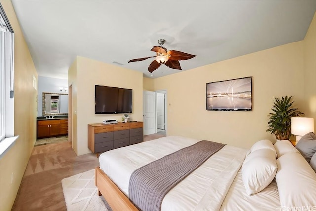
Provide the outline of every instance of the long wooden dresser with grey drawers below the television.
{"type": "Polygon", "coordinates": [[[99,156],[100,152],[137,144],[143,141],[143,122],[104,125],[88,124],[88,148],[99,156]]]}

